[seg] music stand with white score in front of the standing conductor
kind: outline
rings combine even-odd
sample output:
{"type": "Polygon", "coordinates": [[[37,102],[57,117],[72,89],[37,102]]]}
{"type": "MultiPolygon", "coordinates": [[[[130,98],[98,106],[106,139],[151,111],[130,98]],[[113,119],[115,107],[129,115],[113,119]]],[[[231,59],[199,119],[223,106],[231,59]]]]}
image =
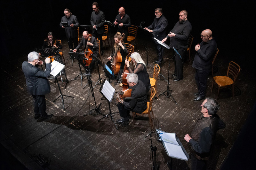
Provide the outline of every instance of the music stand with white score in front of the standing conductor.
{"type": "MultiPolygon", "coordinates": [[[[59,81],[58,81],[58,79],[57,79],[57,77],[56,77],[56,76],[61,72],[61,70],[65,67],[65,65],[63,65],[63,64],[61,64],[61,63],[59,63],[59,62],[57,62],[57,61],[55,61],[55,60],[51,63],[51,65],[52,65],[52,67],[51,67],[51,74],[52,74],[52,75],[54,76],[54,78],[56,79],[57,84],[58,84],[58,87],[59,87],[59,90],[60,90],[60,96],[57,97],[53,102],[56,102],[56,100],[61,97],[61,101],[62,101],[62,105],[63,105],[63,110],[65,110],[64,98],[63,98],[63,96],[66,96],[66,97],[72,97],[72,96],[63,95],[63,94],[61,93],[60,84],[59,84],[59,81]]],[[[72,98],[74,98],[74,97],[72,97],[72,98]]]]}

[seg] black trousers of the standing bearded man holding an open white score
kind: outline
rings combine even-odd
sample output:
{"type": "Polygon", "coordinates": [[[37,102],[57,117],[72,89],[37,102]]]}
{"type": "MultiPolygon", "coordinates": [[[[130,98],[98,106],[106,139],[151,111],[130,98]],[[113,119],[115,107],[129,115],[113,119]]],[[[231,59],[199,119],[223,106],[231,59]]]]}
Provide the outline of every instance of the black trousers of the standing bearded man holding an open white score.
{"type": "Polygon", "coordinates": [[[176,49],[176,50],[180,53],[181,58],[173,50],[173,54],[174,54],[173,60],[174,60],[174,65],[175,65],[174,74],[177,75],[177,77],[176,77],[177,79],[183,79],[183,64],[185,61],[185,55],[186,55],[187,49],[176,49]]]}

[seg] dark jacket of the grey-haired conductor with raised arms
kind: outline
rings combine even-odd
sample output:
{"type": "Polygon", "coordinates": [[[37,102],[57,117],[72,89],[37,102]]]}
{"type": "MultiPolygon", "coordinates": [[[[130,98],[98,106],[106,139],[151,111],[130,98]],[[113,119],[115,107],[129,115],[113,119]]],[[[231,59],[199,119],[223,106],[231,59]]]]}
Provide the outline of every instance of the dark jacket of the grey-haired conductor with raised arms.
{"type": "Polygon", "coordinates": [[[22,63],[22,71],[26,77],[27,89],[32,95],[50,93],[51,87],[47,77],[50,76],[51,66],[51,64],[46,64],[46,70],[43,71],[27,61],[22,63]]]}

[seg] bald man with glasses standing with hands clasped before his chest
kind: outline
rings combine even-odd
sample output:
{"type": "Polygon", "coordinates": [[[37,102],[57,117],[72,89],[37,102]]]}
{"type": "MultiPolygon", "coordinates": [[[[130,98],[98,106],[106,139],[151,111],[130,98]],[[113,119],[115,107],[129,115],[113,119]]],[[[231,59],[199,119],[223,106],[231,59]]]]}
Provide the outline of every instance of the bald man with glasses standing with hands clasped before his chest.
{"type": "Polygon", "coordinates": [[[198,91],[194,93],[199,101],[205,98],[207,77],[212,69],[212,59],[217,50],[217,43],[212,37],[212,31],[206,29],[201,33],[202,42],[195,47],[196,55],[192,67],[196,69],[195,79],[198,91]]]}

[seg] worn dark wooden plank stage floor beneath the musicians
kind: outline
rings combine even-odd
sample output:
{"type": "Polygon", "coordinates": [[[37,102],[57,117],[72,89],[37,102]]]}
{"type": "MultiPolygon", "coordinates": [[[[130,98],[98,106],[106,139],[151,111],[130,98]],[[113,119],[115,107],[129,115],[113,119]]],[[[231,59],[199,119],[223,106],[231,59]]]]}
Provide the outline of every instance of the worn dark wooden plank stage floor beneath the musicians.
{"type": "MultiPolygon", "coordinates": [[[[63,43],[63,53],[66,59],[66,73],[68,80],[76,77],[80,71],[75,61],[69,59],[68,45],[63,43]]],[[[197,42],[196,42],[197,43],[197,42]]],[[[146,62],[146,49],[141,41],[135,44],[135,51],[139,52],[146,62]]],[[[192,45],[194,47],[194,44],[192,45]]],[[[193,48],[192,48],[193,49],[193,48]]],[[[215,75],[225,75],[230,57],[223,56],[220,49],[215,65],[218,72],[215,75]]],[[[105,48],[104,48],[105,51],[105,48]]],[[[192,59],[194,50],[192,50],[192,59]]],[[[86,116],[90,109],[95,108],[92,96],[89,96],[89,86],[84,89],[87,79],[70,81],[67,88],[60,82],[61,92],[74,98],[65,98],[65,111],[62,102],[53,102],[59,95],[57,84],[50,80],[51,92],[46,95],[47,112],[53,114],[53,118],[44,122],[34,120],[33,100],[26,89],[26,81],[21,69],[23,61],[27,61],[30,51],[20,55],[18,60],[3,60],[1,65],[1,145],[14,155],[28,169],[40,169],[36,159],[40,155],[50,164],[45,169],[151,169],[150,163],[150,140],[144,138],[151,127],[148,120],[132,120],[128,127],[119,127],[118,130],[112,121],[103,119],[102,115],[95,112],[86,116]],[[3,62],[6,62],[3,64],[3,62]],[[34,159],[34,160],[33,160],[34,159]]],[[[107,47],[102,59],[107,61],[111,49],[107,47]]],[[[165,50],[164,58],[170,58],[169,52],[165,50]]],[[[153,66],[156,59],[156,50],[153,43],[148,43],[148,64],[153,66]]],[[[169,59],[164,59],[162,74],[168,77],[169,59]]],[[[174,70],[173,60],[170,61],[170,74],[174,70]]],[[[239,64],[239,63],[238,63],[239,64]]],[[[181,143],[188,151],[188,143],[184,140],[186,134],[190,134],[195,126],[196,120],[202,116],[200,102],[193,101],[193,93],[197,91],[194,80],[195,70],[192,63],[184,64],[184,80],[174,82],[170,80],[170,89],[173,99],[161,95],[153,101],[153,119],[155,128],[163,131],[176,133],[181,143]]],[[[237,94],[232,99],[231,91],[226,90],[220,94],[218,102],[221,107],[219,116],[226,123],[226,128],[219,130],[216,136],[213,159],[209,161],[208,169],[219,169],[236,141],[249,112],[255,102],[255,73],[250,73],[243,65],[236,83],[237,94]],[[253,77],[253,78],[252,78],[253,77]],[[240,92],[239,92],[240,90],[240,92]]],[[[100,77],[106,79],[103,67],[99,66],[100,77]]],[[[149,76],[153,76],[153,69],[147,66],[149,76]]],[[[82,69],[84,72],[84,69],[82,69]]],[[[98,81],[97,66],[92,72],[92,81],[98,81]]],[[[211,94],[212,76],[208,78],[208,97],[216,97],[217,89],[211,94]]],[[[59,78],[60,80],[60,78],[59,78]]],[[[112,83],[113,84],[113,83],[112,83]]],[[[92,84],[93,86],[95,83],[92,84]]],[[[162,78],[158,81],[158,93],[167,89],[167,82],[162,78]]],[[[108,103],[101,100],[99,92],[100,85],[94,88],[97,106],[100,111],[108,114],[108,103]]],[[[117,88],[117,91],[119,88],[117,88]]],[[[118,109],[112,101],[110,104],[112,112],[118,109]]],[[[114,119],[119,119],[119,114],[114,114],[114,119]]],[[[153,146],[157,147],[157,164],[160,169],[168,169],[166,163],[170,158],[164,152],[163,147],[156,141],[156,135],[152,136],[153,146]]],[[[240,155],[241,156],[241,155],[240,155]]],[[[190,169],[190,161],[173,159],[173,169],[190,169]]]]}

